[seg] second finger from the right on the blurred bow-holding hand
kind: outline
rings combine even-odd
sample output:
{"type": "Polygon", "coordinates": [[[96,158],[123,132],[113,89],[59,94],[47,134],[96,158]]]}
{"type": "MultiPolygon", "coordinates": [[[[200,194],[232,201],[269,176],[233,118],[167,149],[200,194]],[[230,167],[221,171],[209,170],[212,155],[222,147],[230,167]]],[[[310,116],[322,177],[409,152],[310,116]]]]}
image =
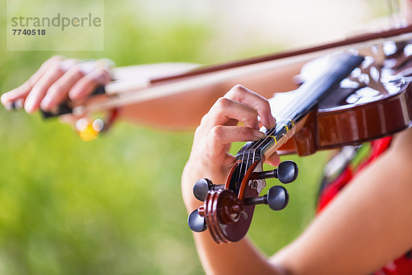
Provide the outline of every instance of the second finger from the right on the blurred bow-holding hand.
{"type": "Polygon", "coordinates": [[[84,76],[80,66],[72,66],[61,78],[49,87],[41,101],[41,109],[50,111],[67,98],[69,90],[84,76]]]}

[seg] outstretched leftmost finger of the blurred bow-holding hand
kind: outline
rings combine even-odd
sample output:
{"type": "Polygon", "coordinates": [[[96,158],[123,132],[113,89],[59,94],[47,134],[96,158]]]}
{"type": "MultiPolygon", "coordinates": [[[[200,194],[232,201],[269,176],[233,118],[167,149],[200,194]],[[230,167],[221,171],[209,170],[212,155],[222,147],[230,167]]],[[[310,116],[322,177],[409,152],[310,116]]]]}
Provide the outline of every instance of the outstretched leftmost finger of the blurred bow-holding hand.
{"type": "Polygon", "coordinates": [[[8,102],[12,102],[21,98],[26,98],[27,94],[30,93],[34,85],[40,80],[43,74],[51,67],[52,65],[62,61],[62,56],[53,56],[45,61],[40,68],[38,68],[37,72],[35,72],[23,85],[17,87],[16,89],[12,89],[7,93],[1,96],[1,103],[6,104],[8,102]]]}

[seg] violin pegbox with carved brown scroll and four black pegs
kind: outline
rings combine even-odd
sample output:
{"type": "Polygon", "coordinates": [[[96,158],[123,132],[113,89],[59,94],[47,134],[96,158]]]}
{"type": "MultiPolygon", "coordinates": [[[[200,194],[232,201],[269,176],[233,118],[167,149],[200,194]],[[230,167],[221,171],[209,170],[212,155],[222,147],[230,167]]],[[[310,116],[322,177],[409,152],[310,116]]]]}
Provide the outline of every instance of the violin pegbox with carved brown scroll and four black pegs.
{"type": "Polygon", "coordinates": [[[198,179],[193,192],[196,199],[204,203],[189,215],[187,223],[194,232],[208,229],[216,243],[240,241],[249,230],[255,205],[267,204],[272,210],[282,210],[288,204],[288,191],[283,186],[273,186],[267,195],[259,197],[266,186],[265,179],[275,177],[288,184],[295,181],[297,173],[295,162],[282,162],[274,170],[263,172],[262,162],[257,160],[245,173],[238,162],[226,184],[216,185],[209,179],[198,179]]]}

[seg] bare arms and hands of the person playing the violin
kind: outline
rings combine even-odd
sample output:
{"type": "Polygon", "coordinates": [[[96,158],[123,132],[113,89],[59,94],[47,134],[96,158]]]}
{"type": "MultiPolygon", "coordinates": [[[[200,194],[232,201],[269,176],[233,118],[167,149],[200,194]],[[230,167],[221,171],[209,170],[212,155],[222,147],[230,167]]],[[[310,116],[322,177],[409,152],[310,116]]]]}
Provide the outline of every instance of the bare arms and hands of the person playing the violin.
{"type": "MultiPolygon", "coordinates": [[[[405,5],[409,16],[412,1],[406,1],[405,5]]],[[[298,69],[283,73],[291,76],[298,69]]],[[[273,90],[293,89],[290,77],[276,75],[278,78],[273,79],[273,72],[267,72],[253,79],[242,79],[242,84],[266,97],[273,90]],[[278,86],[273,87],[272,83],[278,86]],[[286,83],[286,87],[281,87],[281,83],[286,83]]],[[[3,95],[1,102],[7,105],[22,99],[29,113],[39,108],[47,111],[67,97],[73,101],[84,100],[97,85],[108,80],[105,66],[83,69],[78,61],[57,56],[43,64],[27,83],[3,95]]],[[[194,124],[225,89],[226,86],[209,87],[192,94],[192,98],[186,94],[185,101],[180,96],[172,96],[135,104],[125,107],[122,113],[138,122],[166,126],[194,124]],[[177,106],[190,109],[181,116],[172,112],[177,106]],[[169,115],[159,115],[159,108],[169,115]]],[[[258,115],[266,128],[275,125],[267,100],[236,85],[203,117],[196,129],[192,153],[182,176],[183,199],[189,212],[200,206],[192,195],[197,179],[207,177],[214,182],[222,182],[227,177],[235,160],[227,152],[231,142],[262,138],[264,133],[258,130],[258,115]],[[238,121],[244,122],[244,126],[236,126],[238,121]]],[[[412,163],[411,138],[412,130],[396,135],[388,151],[365,168],[299,238],[270,258],[260,253],[248,239],[216,245],[208,232],[194,234],[206,272],[367,274],[404,254],[412,248],[412,169],[408,167],[412,163]]],[[[276,166],[279,157],[273,155],[267,162],[276,166]]]]}

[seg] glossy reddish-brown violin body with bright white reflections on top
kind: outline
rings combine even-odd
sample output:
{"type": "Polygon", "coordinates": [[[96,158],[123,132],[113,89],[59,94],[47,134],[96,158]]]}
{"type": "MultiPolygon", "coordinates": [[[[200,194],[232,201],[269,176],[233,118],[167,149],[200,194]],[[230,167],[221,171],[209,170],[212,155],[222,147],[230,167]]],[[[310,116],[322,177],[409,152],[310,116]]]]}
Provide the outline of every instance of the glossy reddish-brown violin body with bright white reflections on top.
{"type": "MultiPolygon", "coordinates": [[[[412,125],[411,43],[391,43],[392,54],[369,56],[307,116],[278,153],[310,155],[358,145],[412,125]]],[[[382,45],[384,48],[384,45],[382,45]]],[[[382,50],[382,52],[384,52],[382,50]]],[[[276,100],[276,96],[271,101],[276,100]]]]}

